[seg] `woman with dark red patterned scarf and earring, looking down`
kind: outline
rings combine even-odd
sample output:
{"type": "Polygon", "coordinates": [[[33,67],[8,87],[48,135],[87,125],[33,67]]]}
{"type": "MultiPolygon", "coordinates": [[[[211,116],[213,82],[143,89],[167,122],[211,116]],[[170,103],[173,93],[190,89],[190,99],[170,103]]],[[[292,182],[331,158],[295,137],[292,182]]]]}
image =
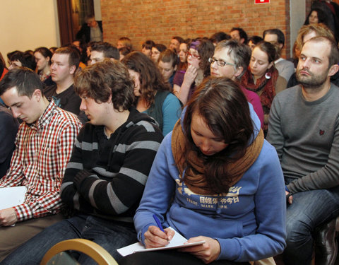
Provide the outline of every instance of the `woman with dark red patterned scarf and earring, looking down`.
{"type": "Polygon", "coordinates": [[[270,42],[259,42],[254,47],[249,62],[249,69],[242,76],[242,86],[254,91],[260,97],[264,113],[264,131],[268,129],[268,114],[270,105],[276,94],[284,90],[287,86],[285,78],[279,76],[275,69],[274,61],[277,52],[270,42]]]}

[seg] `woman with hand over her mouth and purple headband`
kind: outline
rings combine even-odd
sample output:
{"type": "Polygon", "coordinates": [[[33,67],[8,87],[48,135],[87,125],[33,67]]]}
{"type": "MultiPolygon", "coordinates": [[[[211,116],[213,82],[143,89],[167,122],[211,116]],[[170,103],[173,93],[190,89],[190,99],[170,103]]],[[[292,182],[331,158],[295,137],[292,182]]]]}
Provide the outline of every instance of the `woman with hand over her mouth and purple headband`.
{"type": "Polygon", "coordinates": [[[196,86],[210,75],[208,58],[213,56],[214,45],[210,40],[198,39],[191,42],[187,52],[187,69],[177,71],[173,81],[173,93],[185,105],[193,95],[196,86]]]}

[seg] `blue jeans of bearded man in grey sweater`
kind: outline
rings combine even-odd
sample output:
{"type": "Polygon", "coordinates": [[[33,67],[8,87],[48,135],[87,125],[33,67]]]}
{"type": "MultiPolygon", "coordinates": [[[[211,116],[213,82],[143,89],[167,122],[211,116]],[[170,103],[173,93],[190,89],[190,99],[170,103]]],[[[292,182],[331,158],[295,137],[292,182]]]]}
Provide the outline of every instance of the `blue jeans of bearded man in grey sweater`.
{"type": "Polygon", "coordinates": [[[293,194],[293,203],[287,206],[285,265],[311,264],[312,232],[338,215],[339,187],[293,194]]]}

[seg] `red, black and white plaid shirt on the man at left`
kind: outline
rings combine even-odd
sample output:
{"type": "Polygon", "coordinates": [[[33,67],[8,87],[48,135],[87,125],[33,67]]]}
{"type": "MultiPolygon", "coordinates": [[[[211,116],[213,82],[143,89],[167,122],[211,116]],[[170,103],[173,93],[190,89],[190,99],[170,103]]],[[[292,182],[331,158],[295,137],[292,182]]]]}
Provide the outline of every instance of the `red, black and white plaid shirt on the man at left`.
{"type": "Polygon", "coordinates": [[[0,187],[25,186],[25,202],[15,206],[18,221],[58,213],[61,180],[81,122],[53,100],[34,124],[20,125],[11,167],[0,187]]]}

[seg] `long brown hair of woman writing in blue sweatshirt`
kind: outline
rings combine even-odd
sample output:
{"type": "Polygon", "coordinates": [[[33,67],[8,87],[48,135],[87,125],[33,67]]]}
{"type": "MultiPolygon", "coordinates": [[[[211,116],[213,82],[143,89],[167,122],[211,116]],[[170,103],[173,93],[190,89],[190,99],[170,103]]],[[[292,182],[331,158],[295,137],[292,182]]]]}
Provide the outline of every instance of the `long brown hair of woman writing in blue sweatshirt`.
{"type": "MultiPolygon", "coordinates": [[[[225,163],[242,158],[254,136],[254,125],[244,93],[237,83],[229,78],[206,78],[187,105],[183,126],[188,140],[184,157],[187,157],[192,149],[195,150],[199,157],[205,160],[208,189],[216,193],[225,192],[225,189],[229,188],[227,185],[232,182],[232,176],[225,172],[225,163]],[[210,131],[229,144],[227,148],[214,155],[203,155],[191,136],[193,114],[199,114],[208,124],[210,131]]],[[[191,167],[188,160],[185,164],[185,167],[191,167]]]]}

